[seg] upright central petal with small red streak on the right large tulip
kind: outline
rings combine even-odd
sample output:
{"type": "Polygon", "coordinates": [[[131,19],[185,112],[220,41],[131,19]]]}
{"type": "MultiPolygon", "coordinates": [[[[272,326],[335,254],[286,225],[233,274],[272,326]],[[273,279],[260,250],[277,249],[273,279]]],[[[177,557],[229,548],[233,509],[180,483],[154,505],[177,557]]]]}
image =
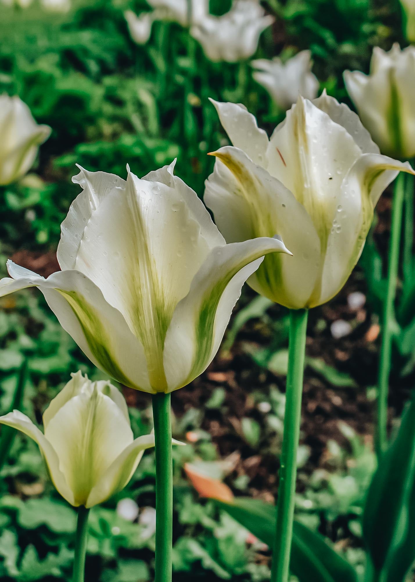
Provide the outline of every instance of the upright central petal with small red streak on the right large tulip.
{"type": "Polygon", "coordinates": [[[320,238],[321,254],[341,204],[342,181],[360,155],[362,151],[346,129],[302,97],[271,136],[269,172],[309,214],[320,238]]]}

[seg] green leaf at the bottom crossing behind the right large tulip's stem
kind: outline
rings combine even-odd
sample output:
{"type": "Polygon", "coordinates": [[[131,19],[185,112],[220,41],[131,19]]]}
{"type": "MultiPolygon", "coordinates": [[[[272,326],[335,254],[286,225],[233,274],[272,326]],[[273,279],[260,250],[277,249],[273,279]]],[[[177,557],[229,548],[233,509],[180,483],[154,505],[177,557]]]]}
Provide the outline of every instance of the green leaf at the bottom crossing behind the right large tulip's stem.
{"type": "MultiPolygon", "coordinates": [[[[276,508],[258,499],[216,501],[259,540],[273,546],[276,508]]],[[[357,582],[356,570],[320,534],[295,521],[290,569],[300,582],[357,582]]]]}

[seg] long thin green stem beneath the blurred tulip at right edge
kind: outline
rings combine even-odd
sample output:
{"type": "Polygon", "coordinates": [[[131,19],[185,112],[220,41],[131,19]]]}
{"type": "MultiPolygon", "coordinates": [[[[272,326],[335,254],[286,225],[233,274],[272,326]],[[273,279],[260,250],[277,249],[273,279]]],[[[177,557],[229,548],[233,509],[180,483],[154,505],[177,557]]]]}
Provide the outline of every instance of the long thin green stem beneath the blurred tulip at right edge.
{"type": "Polygon", "coordinates": [[[388,288],[384,302],[382,345],[379,363],[377,425],[375,448],[378,458],[388,443],[388,392],[389,373],[391,371],[392,339],[395,326],[393,304],[396,295],[396,280],[398,279],[400,233],[402,230],[402,210],[405,196],[405,174],[396,178],[393,190],[391,235],[389,239],[388,288]]]}

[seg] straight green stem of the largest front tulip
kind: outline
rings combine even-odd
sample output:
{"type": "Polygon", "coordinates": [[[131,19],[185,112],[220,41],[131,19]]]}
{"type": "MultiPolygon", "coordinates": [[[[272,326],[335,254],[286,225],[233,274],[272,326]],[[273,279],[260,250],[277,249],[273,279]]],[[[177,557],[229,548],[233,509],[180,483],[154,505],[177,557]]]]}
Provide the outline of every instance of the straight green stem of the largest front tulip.
{"type": "Polygon", "coordinates": [[[152,396],[156,451],[156,571],[154,582],[171,582],[173,464],[170,394],[152,396]]]}

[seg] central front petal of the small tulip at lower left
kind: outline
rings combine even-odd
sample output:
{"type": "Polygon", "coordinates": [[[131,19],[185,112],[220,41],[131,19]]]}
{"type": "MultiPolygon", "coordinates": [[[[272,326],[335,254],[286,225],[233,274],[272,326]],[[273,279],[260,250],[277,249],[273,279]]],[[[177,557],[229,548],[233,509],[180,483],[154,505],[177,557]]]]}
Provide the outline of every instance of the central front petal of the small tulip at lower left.
{"type": "Polygon", "coordinates": [[[117,404],[95,383],[84,386],[45,427],[76,505],[85,505],[96,482],[133,442],[130,423],[117,404]]]}

